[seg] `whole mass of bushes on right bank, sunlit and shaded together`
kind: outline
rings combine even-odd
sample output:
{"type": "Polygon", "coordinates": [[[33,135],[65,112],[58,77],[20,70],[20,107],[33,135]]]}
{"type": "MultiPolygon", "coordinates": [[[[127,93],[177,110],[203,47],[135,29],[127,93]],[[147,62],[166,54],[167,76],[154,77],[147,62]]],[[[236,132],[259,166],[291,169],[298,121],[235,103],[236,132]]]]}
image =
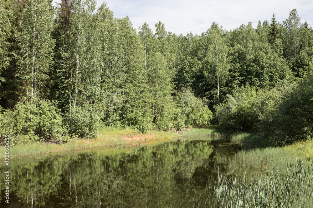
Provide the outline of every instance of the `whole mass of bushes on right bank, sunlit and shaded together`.
{"type": "Polygon", "coordinates": [[[296,84],[281,83],[270,91],[241,88],[216,107],[216,116],[224,128],[261,132],[273,144],[311,139],[312,83],[310,74],[296,84]]]}

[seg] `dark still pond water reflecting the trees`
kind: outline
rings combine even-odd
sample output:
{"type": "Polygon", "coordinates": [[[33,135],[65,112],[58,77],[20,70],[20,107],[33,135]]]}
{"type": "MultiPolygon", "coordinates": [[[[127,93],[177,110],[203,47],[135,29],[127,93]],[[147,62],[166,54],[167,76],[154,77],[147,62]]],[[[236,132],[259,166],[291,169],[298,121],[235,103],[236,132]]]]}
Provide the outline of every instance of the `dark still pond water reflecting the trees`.
{"type": "Polygon", "coordinates": [[[231,174],[237,149],[192,138],[13,160],[10,204],[3,185],[0,207],[210,207],[208,191],[231,174]]]}

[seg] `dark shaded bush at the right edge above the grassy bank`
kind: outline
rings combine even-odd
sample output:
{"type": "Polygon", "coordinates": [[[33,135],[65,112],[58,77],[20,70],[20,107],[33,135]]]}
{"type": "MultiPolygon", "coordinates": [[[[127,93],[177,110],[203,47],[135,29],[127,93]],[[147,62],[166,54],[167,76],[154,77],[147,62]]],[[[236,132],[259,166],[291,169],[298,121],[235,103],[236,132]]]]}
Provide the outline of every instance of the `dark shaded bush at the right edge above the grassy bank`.
{"type": "Polygon", "coordinates": [[[264,118],[265,135],[284,144],[313,138],[313,75],[298,80],[297,85],[278,99],[277,107],[264,118]]]}

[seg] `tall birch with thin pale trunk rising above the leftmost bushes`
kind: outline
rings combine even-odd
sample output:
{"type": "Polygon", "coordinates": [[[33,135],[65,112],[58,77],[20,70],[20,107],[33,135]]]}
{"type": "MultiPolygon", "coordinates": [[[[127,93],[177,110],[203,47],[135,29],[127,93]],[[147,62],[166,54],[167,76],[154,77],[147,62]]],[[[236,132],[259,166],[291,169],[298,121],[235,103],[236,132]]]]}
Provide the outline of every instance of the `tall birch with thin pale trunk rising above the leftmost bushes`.
{"type": "Polygon", "coordinates": [[[54,10],[51,3],[52,1],[45,0],[29,2],[18,38],[23,54],[20,58],[19,75],[27,81],[26,100],[28,102],[30,93],[31,104],[33,104],[34,96],[43,88],[45,80],[48,79],[47,75],[52,64],[54,40],[51,37],[51,31],[54,10]]]}

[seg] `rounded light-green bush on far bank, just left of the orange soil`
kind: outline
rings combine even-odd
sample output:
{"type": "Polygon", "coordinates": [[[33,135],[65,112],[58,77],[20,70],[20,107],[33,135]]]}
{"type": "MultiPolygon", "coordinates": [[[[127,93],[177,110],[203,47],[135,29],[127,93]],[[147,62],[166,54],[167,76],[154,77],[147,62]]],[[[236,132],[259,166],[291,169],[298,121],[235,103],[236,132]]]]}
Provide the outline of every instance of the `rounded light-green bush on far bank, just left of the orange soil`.
{"type": "Polygon", "coordinates": [[[101,114],[96,108],[86,104],[76,106],[66,114],[69,134],[74,137],[95,137],[100,128],[101,114]]]}

